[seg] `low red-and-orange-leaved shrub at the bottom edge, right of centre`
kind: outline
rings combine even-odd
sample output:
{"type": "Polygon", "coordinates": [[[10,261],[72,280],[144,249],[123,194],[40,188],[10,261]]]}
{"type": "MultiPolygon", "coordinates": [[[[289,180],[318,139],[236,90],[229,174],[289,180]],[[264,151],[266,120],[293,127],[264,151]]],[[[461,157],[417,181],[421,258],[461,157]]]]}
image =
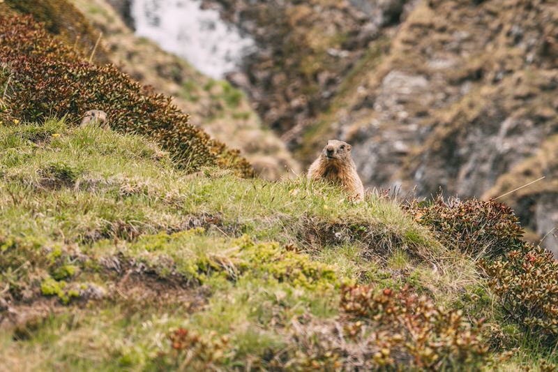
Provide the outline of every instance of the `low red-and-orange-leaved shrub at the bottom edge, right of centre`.
{"type": "Polygon", "coordinates": [[[467,369],[480,365],[488,351],[480,322],[471,325],[461,311],[435,306],[407,288],[344,286],[340,306],[351,336],[364,337],[368,327],[365,337],[373,341],[370,356],[376,366],[467,369]]]}

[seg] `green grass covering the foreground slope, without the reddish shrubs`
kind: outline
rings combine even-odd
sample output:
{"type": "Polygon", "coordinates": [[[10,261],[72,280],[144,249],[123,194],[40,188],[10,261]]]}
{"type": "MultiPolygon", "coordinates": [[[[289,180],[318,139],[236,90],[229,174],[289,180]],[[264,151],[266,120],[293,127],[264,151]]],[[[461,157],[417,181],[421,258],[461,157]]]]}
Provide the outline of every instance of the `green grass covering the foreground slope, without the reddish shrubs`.
{"type": "Polygon", "coordinates": [[[2,370],[269,368],[295,358],[293,320],[340,316],[344,283],[482,312],[474,262],[391,199],[186,174],[143,137],[63,119],[0,126],[0,153],[2,370]],[[189,357],[175,329],[197,335],[189,357]]]}

